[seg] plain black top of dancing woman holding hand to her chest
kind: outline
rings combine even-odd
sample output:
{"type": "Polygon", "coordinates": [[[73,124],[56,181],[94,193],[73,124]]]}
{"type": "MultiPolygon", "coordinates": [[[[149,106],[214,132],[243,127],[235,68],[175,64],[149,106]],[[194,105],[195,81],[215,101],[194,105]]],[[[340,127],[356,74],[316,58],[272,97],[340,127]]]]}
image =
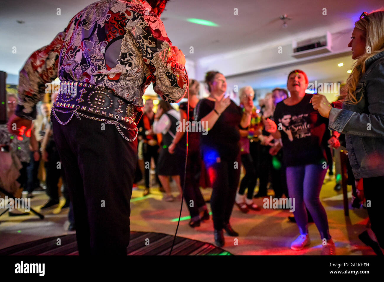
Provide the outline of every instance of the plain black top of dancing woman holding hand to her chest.
{"type": "MultiPolygon", "coordinates": [[[[195,107],[195,120],[200,121],[215,107],[215,102],[202,99],[195,107]]],[[[215,148],[220,158],[233,160],[240,152],[239,125],[243,111],[232,100],[227,109],[222,112],[214,126],[200,138],[200,148],[204,154],[206,148],[215,148]]]]}

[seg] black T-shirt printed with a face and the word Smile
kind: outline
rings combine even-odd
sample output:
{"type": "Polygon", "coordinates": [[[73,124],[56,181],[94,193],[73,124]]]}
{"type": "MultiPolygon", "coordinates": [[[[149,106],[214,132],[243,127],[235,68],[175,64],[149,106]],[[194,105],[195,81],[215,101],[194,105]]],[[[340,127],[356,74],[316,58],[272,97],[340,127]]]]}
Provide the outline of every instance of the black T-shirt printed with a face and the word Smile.
{"type": "Polygon", "coordinates": [[[287,106],[284,101],[276,105],[274,118],[281,133],[283,160],[287,167],[327,162],[328,119],[313,109],[311,97],[312,94],[305,95],[293,106],[287,106]]]}

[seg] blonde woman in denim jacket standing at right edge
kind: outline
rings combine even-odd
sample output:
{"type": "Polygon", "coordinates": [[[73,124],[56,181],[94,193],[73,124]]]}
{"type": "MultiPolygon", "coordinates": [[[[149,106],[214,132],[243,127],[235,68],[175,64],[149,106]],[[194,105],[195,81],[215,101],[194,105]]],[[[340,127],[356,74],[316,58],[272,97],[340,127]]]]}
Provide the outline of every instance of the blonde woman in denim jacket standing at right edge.
{"type": "Polygon", "coordinates": [[[329,118],[329,128],[345,134],[349,162],[356,179],[363,178],[371,229],[359,238],[382,255],[384,232],[384,10],[364,12],[356,21],[351,41],[356,59],[347,80],[343,109],[332,108],[326,97],[315,95],[313,108],[329,118]],[[369,203],[369,204],[368,204],[369,203]],[[373,231],[373,232],[372,232],[373,231]]]}

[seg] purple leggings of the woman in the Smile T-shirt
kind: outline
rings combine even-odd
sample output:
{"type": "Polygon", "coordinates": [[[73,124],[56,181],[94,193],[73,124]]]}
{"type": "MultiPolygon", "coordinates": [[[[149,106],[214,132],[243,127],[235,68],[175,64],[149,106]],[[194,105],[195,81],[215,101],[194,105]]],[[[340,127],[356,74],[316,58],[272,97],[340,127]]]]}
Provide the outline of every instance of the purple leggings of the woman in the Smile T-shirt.
{"type": "Polygon", "coordinates": [[[310,212],[321,239],[331,239],[329,235],[327,214],[320,202],[320,190],[323,185],[327,168],[323,165],[298,165],[287,167],[287,185],[290,198],[295,198],[296,223],[300,234],[308,234],[308,214],[310,212]]]}

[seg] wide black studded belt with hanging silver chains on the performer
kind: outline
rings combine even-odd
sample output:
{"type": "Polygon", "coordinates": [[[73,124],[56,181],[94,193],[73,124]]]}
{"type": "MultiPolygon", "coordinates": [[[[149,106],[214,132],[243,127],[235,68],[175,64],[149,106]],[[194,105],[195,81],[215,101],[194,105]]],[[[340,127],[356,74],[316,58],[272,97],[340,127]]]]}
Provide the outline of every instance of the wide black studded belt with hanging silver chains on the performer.
{"type": "Polygon", "coordinates": [[[53,103],[52,114],[62,125],[70,122],[74,114],[78,119],[83,116],[106,124],[114,124],[124,139],[133,141],[137,137],[136,124],[142,112],[138,111],[136,106],[116,96],[112,90],[84,82],[62,81],[56,102],[53,103]],[[55,111],[72,112],[72,115],[68,121],[62,122],[55,111]],[[134,139],[128,139],[119,127],[135,130],[136,136],[134,139]]]}

